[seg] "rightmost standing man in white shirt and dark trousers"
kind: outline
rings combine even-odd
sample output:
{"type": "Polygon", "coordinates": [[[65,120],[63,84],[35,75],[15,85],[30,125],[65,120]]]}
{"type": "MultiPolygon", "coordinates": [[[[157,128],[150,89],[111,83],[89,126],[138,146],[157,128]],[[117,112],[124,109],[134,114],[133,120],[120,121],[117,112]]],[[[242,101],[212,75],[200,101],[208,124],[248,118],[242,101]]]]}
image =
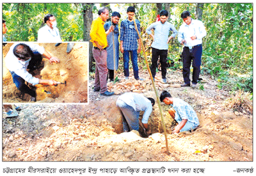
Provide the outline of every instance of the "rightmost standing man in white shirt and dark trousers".
{"type": "Polygon", "coordinates": [[[181,87],[190,86],[190,66],[193,60],[193,80],[192,87],[195,88],[200,75],[201,57],[202,57],[202,38],[206,36],[204,24],[200,20],[191,18],[189,11],[181,13],[180,17],[184,23],[180,26],[178,41],[183,48],[183,78],[184,84],[181,87]]]}

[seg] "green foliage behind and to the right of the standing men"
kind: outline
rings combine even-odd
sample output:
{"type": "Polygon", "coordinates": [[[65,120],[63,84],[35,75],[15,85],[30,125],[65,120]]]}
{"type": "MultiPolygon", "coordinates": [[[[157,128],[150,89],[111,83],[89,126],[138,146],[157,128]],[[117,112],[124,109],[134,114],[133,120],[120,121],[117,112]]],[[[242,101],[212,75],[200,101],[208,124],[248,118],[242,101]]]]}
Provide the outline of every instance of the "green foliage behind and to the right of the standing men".
{"type": "MultiPolygon", "coordinates": [[[[132,4],[125,4],[128,5],[132,4]]],[[[180,18],[182,11],[189,10],[191,17],[195,18],[196,5],[171,4],[170,22],[177,30],[183,23],[180,18]]],[[[145,29],[156,21],[156,4],[136,4],[136,7],[143,44],[150,56],[152,39],[145,34],[145,29]]],[[[253,91],[252,11],[252,3],[204,4],[202,21],[207,36],[203,39],[202,74],[216,78],[219,89],[253,91]]],[[[181,53],[182,46],[176,36],[168,49],[168,63],[173,70],[182,69],[181,53]]]]}

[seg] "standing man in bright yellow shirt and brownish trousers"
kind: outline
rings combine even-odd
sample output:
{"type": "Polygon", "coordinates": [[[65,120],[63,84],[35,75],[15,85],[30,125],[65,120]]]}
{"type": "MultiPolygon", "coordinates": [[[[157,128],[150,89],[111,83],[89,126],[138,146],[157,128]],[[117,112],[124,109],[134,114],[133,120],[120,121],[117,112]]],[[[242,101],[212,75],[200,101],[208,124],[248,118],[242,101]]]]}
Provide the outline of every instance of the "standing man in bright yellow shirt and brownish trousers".
{"type": "Polygon", "coordinates": [[[109,18],[108,8],[102,7],[98,11],[99,17],[92,22],[90,31],[91,40],[93,43],[93,58],[95,59],[95,83],[94,91],[99,92],[103,96],[111,96],[114,92],[109,92],[107,87],[108,66],[107,66],[107,50],[108,41],[107,35],[114,29],[113,26],[105,32],[104,22],[109,18]]]}

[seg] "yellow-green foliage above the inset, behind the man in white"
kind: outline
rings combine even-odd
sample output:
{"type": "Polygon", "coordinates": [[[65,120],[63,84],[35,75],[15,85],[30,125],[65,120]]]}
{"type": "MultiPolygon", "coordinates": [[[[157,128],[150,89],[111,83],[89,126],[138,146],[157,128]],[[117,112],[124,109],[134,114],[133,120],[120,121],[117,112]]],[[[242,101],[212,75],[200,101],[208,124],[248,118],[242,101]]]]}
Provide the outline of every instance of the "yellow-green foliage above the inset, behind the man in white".
{"type": "Polygon", "coordinates": [[[56,17],[57,27],[63,41],[83,41],[83,16],[81,5],[71,3],[3,3],[3,18],[6,20],[8,41],[36,41],[44,16],[56,17]]]}

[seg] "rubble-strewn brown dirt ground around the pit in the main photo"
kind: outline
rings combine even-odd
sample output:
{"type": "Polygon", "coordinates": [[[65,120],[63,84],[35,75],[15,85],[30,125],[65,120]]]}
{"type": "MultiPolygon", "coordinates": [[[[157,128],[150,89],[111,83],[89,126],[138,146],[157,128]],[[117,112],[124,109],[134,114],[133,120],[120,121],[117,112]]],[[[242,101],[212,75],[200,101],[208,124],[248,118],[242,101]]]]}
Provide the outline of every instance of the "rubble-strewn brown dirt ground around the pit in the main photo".
{"type": "MultiPolygon", "coordinates": [[[[200,89],[192,89],[177,86],[182,83],[181,71],[168,70],[168,84],[161,83],[160,74],[158,94],[167,90],[184,99],[200,120],[195,131],[172,134],[168,106],[161,103],[170,154],[157,103],[148,121],[152,135],[122,133],[115,101],[127,91],[124,85],[138,82],[132,76],[124,80],[118,73],[121,82],[108,84],[109,91],[118,92],[111,97],[93,92],[90,78],[89,105],[20,105],[19,117],[7,119],[3,114],[3,161],[253,161],[250,94],[219,90],[207,75],[202,75],[200,89]]],[[[139,81],[139,88],[144,86],[141,93],[156,98],[147,71],[140,77],[145,78],[139,81]]]]}

